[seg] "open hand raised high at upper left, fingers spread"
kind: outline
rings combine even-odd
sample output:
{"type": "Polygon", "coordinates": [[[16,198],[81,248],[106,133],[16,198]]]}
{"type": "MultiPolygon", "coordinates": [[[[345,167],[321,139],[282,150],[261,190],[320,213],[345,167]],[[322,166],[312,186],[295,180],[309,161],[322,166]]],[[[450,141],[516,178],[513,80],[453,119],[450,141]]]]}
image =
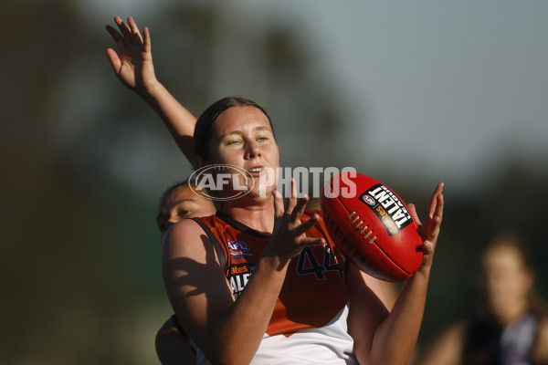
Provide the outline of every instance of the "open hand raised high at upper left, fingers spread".
{"type": "Polygon", "coordinates": [[[118,52],[112,48],[107,49],[114,73],[126,87],[142,96],[146,95],[159,84],[154,74],[149,29],[145,26],[141,36],[131,16],[127,24],[120,16],[114,17],[114,22],[120,32],[112,26],[106,26],[118,48],[118,52]]]}

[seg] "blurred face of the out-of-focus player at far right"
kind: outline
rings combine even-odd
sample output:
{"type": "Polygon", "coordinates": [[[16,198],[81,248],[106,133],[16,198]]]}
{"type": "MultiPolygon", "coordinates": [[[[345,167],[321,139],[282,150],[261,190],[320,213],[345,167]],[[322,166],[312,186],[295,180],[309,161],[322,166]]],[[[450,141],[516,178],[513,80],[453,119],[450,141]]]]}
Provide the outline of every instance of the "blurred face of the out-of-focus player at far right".
{"type": "Polygon", "coordinates": [[[484,255],[483,275],[488,304],[493,309],[508,308],[527,300],[532,288],[532,272],[511,246],[494,246],[484,255]]]}

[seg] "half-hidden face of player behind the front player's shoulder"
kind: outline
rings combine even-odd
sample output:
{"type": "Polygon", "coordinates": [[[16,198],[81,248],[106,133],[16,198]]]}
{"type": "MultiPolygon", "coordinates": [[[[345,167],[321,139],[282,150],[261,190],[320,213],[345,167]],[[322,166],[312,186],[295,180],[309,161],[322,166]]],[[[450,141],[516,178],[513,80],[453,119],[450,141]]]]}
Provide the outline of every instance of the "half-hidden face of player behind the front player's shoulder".
{"type": "Polygon", "coordinates": [[[188,185],[179,186],[165,198],[165,203],[156,218],[160,232],[184,218],[215,214],[212,201],[195,194],[188,185]]]}

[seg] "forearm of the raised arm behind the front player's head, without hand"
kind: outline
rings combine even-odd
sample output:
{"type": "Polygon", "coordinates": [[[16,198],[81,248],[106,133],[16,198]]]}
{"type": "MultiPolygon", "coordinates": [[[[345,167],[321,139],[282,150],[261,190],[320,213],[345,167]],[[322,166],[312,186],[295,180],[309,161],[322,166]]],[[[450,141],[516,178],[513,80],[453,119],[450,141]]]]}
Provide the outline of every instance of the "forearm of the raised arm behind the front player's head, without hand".
{"type": "Polygon", "coordinates": [[[160,82],[156,82],[146,92],[138,92],[138,94],[160,116],[179,149],[183,151],[186,159],[192,162],[194,157],[195,116],[186,110],[160,82]]]}

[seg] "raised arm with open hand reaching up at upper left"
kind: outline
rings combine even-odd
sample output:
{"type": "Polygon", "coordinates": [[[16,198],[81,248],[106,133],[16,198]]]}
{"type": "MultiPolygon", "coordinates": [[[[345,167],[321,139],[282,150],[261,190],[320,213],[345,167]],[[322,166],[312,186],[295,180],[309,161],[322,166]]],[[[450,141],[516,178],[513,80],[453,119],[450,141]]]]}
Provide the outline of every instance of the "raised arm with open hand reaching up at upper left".
{"type": "Polygon", "coordinates": [[[120,16],[114,17],[114,22],[120,31],[107,26],[118,48],[118,52],[107,49],[114,73],[123,85],[135,91],[156,111],[186,159],[192,162],[196,119],[156,78],[148,27],[143,28],[141,35],[131,16],[127,24],[120,16]]]}

